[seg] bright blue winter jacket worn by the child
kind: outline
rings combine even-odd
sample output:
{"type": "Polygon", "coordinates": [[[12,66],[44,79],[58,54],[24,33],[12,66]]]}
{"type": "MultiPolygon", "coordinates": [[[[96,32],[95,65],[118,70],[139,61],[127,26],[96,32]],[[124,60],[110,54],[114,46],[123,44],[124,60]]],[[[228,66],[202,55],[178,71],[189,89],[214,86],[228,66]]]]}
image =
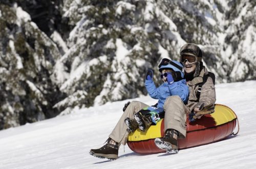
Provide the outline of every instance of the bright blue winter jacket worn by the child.
{"type": "Polygon", "coordinates": [[[157,107],[163,107],[165,99],[169,96],[180,96],[184,104],[186,104],[188,100],[189,90],[186,85],[185,79],[176,81],[172,85],[169,85],[168,82],[164,82],[158,88],[156,88],[156,85],[153,80],[145,80],[145,87],[147,93],[153,99],[158,99],[157,107]]]}

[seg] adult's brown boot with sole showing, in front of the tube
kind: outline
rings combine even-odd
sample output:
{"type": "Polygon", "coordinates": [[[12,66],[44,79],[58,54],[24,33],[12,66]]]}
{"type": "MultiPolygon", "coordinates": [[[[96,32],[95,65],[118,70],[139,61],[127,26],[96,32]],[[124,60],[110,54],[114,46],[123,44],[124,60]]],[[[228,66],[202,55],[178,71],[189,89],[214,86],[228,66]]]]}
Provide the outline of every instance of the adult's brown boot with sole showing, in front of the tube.
{"type": "Polygon", "coordinates": [[[164,137],[156,138],[155,144],[159,149],[165,150],[168,154],[178,153],[179,132],[174,129],[167,129],[164,137]]]}

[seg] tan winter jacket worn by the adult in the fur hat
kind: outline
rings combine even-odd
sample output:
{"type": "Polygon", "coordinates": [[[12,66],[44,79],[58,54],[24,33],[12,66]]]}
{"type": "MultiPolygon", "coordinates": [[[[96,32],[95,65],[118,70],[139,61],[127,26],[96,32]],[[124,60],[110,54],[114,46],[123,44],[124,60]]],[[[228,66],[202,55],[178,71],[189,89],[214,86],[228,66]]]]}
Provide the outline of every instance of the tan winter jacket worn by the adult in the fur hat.
{"type": "Polygon", "coordinates": [[[215,87],[211,77],[207,78],[207,81],[202,86],[200,98],[197,98],[198,86],[199,83],[203,82],[204,74],[208,74],[208,71],[205,67],[203,67],[198,77],[194,77],[193,80],[187,81],[189,89],[188,103],[186,104],[187,114],[190,114],[190,112],[193,111],[195,107],[200,107],[203,103],[205,107],[215,104],[215,87]]]}

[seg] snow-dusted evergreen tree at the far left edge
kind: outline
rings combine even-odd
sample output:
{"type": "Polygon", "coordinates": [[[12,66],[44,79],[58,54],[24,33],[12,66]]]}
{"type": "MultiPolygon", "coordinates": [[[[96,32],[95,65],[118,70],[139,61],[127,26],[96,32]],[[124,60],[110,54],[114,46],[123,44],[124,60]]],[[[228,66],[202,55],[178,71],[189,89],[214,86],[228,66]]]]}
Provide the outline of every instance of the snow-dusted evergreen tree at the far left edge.
{"type": "Polygon", "coordinates": [[[17,5],[0,5],[0,14],[0,129],[56,116],[65,96],[51,76],[56,44],[17,5]]]}

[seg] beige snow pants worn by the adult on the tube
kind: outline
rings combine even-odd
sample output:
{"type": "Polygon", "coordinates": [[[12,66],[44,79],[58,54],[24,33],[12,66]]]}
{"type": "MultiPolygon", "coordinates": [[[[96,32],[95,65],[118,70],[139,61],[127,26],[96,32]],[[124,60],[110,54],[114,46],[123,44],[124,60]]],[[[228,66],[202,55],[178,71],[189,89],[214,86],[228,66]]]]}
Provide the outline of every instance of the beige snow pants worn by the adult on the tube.
{"type": "MultiPolygon", "coordinates": [[[[131,118],[134,119],[134,114],[136,114],[139,110],[148,105],[139,102],[132,101],[129,106],[123,112],[123,115],[119,119],[116,127],[109,135],[110,138],[114,139],[116,142],[125,145],[129,136],[129,131],[127,130],[127,126],[124,123],[124,119],[131,118]]],[[[170,96],[165,100],[164,103],[164,130],[167,129],[175,129],[179,131],[181,134],[179,138],[186,137],[186,114],[184,103],[180,99],[179,96],[170,96]]]]}

